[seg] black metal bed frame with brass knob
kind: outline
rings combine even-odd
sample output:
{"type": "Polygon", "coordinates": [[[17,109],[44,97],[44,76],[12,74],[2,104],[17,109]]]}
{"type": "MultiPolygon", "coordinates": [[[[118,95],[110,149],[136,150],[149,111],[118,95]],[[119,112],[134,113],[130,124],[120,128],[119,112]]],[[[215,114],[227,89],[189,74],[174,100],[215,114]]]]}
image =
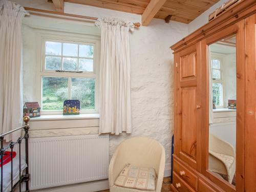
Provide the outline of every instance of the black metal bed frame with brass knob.
{"type": "Polygon", "coordinates": [[[29,150],[28,150],[28,139],[29,139],[29,134],[28,134],[28,131],[29,131],[29,124],[28,124],[28,121],[29,121],[29,117],[25,116],[23,118],[23,121],[25,122],[25,125],[24,126],[21,126],[21,127],[18,127],[17,129],[15,130],[12,130],[12,131],[9,131],[7,133],[4,133],[2,135],[0,135],[0,142],[1,142],[1,149],[0,149],[0,156],[1,156],[1,192],[3,192],[3,169],[4,169],[4,166],[3,166],[3,156],[4,156],[4,153],[6,150],[10,150],[11,151],[11,191],[14,191],[14,189],[16,188],[17,185],[19,185],[19,192],[22,191],[22,182],[26,182],[26,192],[29,192],[29,179],[30,179],[30,174],[29,174],[29,162],[28,162],[28,159],[29,159],[29,150]],[[21,129],[24,129],[25,131],[25,134],[24,136],[21,136],[18,138],[17,141],[15,142],[10,142],[10,144],[6,147],[4,147],[3,143],[4,143],[4,137],[8,134],[11,134],[15,131],[18,131],[18,130],[21,130],[21,129]],[[22,175],[22,170],[21,170],[21,165],[20,165],[20,161],[21,161],[21,157],[20,157],[20,152],[21,152],[21,144],[22,144],[22,141],[23,139],[25,139],[25,157],[26,157],[26,164],[27,164],[27,167],[25,169],[25,174],[22,175]],[[14,184],[13,186],[13,159],[12,159],[12,152],[13,152],[13,148],[15,146],[15,144],[18,144],[18,151],[19,151],[19,181],[17,183],[14,184]]]}

